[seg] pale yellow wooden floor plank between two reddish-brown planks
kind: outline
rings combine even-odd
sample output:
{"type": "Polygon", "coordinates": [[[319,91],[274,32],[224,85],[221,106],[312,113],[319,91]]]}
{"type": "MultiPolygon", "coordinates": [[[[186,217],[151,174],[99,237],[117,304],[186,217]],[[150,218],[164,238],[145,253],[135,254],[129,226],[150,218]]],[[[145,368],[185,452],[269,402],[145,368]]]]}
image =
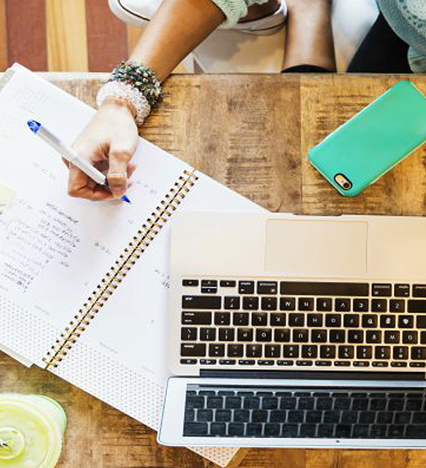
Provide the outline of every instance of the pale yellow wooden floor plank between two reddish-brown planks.
{"type": "Polygon", "coordinates": [[[86,72],[85,0],[46,0],[48,68],[57,72],[86,72]]]}

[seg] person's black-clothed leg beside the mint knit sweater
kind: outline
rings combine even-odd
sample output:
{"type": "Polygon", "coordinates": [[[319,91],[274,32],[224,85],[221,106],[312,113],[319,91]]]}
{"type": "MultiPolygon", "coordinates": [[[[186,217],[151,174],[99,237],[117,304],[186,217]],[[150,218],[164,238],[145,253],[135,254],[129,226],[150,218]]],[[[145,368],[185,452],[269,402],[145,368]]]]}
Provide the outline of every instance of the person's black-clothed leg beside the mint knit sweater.
{"type": "Polygon", "coordinates": [[[410,73],[408,44],[394,32],[382,13],[356,51],[351,73],[410,73]]]}

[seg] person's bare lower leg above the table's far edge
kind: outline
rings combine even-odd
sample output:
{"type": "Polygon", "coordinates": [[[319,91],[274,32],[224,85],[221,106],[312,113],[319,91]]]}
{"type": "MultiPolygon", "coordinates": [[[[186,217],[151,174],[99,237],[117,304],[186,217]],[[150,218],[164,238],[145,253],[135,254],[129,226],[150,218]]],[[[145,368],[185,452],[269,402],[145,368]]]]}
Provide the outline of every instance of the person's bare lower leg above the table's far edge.
{"type": "Polygon", "coordinates": [[[287,0],[283,72],[334,72],[332,0],[287,0]]]}

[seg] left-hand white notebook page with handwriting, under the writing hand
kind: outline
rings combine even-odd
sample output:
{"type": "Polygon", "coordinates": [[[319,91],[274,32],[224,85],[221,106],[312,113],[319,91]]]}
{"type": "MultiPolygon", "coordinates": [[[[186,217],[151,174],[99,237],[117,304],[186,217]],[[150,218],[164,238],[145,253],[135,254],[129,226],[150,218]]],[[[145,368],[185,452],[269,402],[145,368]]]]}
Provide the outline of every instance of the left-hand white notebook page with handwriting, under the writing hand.
{"type": "MultiPolygon", "coordinates": [[[[67,195],[67,168],[26,126],[41,121],[72,143],[94,113],[58,87],[18,69],[0,93],[0,292],[35,320],[62,331],[175,180],[189,166],[141,139],[131,204],[67,195]],[[64,111],[66,109],[66,111],[64,111]],[[3,194],[3,195],[2,195],[3,194]]],[[[4,310],[4,308],[2,308],[4,310]]],[[[21,310],[21,309],[20,309],[21,310]]],[[[19,317],[13,314],[16,326],[19,317]]],[[[19,334],[31,332],[21,330],[19,334]]],[[[40,362],[51,334],[27,356],[11,332],[0,342],[40,362]],[[47,340],[47,341],[46,341],[47,340]],[[46,342],[45,342],[46,341],[46,342]]],[[[29,337],[28,337],[29,338],[29,337]]],[[[54,342],[55,340],[53,340],[54,342]]]]}

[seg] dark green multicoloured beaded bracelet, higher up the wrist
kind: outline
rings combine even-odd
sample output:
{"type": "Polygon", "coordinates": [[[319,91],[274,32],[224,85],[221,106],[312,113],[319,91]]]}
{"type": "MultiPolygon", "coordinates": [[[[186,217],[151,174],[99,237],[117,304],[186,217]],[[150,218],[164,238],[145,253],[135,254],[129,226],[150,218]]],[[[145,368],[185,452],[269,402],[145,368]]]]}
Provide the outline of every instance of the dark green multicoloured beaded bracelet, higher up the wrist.
{"type": "Polygon", "coordinates": [[[108,81],[121,81],[138,89],[148,104],[155,107],[163,100],[164,94],[155,73],[133,60],[124,60],[112,70],[108,81]]]}

